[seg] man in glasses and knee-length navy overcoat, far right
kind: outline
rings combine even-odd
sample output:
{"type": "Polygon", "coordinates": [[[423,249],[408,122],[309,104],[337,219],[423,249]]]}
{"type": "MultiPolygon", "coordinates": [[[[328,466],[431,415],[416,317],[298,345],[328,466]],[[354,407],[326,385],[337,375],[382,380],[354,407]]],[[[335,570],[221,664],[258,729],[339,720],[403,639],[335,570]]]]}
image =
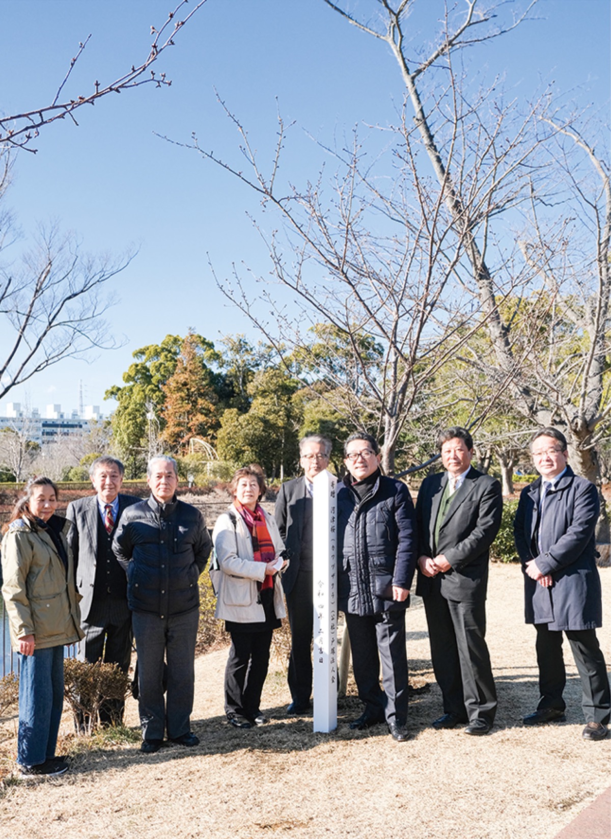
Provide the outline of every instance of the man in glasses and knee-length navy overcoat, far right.
{"type": "Polygon", "coordinates": [[[594,530],[598,491],[567,465],[567,440],[555,428],[538,431],[531,456],[541,477],[525,487],[515,514],[515,546],[524,571],[526,623],[536,628],[541,698],[526,725],[564,720],[567,674],[562,633],[582,682],[586,740],[608,734],[611,696],[596,628],[603,624],[594,530]]]}

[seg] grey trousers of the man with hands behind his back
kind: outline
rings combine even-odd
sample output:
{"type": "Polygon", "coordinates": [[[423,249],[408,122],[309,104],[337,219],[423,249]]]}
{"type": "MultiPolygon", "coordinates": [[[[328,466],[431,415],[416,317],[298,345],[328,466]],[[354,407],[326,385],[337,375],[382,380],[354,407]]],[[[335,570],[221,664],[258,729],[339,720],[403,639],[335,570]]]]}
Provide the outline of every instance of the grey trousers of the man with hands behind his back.
{"type": "Polygon", "coordinates": [[[132,614],[138,656],[138,710],[144,740],[163,740],[163,732],[174,740],[190,730],[198,622],[199,609],[164,618],[147,612],[132,614]],[[168,664],[165,699],[164,660],[168,664]]]}

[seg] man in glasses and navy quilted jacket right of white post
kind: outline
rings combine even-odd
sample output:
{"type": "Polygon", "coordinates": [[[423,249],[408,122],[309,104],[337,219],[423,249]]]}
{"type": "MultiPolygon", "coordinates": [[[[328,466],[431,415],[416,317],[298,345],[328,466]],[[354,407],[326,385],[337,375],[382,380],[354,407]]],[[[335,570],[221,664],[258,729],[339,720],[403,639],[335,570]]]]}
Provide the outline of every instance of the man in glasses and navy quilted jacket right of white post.
{"type": "Polygon", "coordinates": [[[363,730],[386,719],[401,742],[407,739],[405,611],[416,568],[414,505],[404,483],[381,474],[373,437],[351,435],[344,456],[349,473],[338,492],[339,608],[365,704],[350,727],[363,730]]]}

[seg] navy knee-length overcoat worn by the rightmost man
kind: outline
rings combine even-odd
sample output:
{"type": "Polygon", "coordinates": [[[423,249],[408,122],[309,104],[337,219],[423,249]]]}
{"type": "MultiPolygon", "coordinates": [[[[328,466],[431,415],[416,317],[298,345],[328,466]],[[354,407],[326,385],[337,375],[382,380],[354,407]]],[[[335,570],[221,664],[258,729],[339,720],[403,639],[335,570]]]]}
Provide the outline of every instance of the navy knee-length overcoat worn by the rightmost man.
{"type": "Polygon", "coordinates": [[[526,623],[546,623],[556,631],[600,627],[603,606],[594,537],[600,508],[597,488],[567,466],[546,494],[541,527],[540,495],[541,477],[522,490],[515,514],[515,546],[522,568],[536,560],[541,573],[552,579],[551,587],[545,588],[525,573],[526,623]]]}

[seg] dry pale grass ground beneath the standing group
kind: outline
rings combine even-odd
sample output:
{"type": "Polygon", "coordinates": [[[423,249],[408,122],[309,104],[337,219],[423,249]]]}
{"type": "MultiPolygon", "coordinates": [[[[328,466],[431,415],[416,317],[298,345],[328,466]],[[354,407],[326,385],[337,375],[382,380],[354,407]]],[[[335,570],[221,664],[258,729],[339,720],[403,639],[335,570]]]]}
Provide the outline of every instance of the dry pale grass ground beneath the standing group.
{"type": "MultiPolygon", "coordinates": [[[[609,569],[603,586],[608,606],[609,569]]],[[[434,731],[437,685],[414,692],[407,743],[392,741],[382,726],[350,732],[346,723],[360,713],[354,685],[340,702],[337,731],[313,734],[311,720],[284,716],[289,696],[280,671],[271,673],[263,696],[272,722],[239,732],[224,722],[221,649],[196,662],[198,748],[168,746],[145,756],[129,745],[80,754],[60,779],[8,787],[0,836],[551,839],[608,786],[610,742],[581,737],[580,690],[568,651],[567,722],[522,727],[537,689],[534,630],[522,623],[516,566],[493,566],[488,613],[500,699],[489,737],[434,731]]],[[[422,685],[432,674],[418,604],[407,614],[407,630],[415,685],[422,685]]],[[[611,661],[609,626],[600,638],[611,661]]],[[[135,726],[131,699],[127,713],[135,726]]],[[[66,718],[66,732],[70,726],[66,718]]],[[[11,727],[4,721],[4,737],[11,727]]]]}

